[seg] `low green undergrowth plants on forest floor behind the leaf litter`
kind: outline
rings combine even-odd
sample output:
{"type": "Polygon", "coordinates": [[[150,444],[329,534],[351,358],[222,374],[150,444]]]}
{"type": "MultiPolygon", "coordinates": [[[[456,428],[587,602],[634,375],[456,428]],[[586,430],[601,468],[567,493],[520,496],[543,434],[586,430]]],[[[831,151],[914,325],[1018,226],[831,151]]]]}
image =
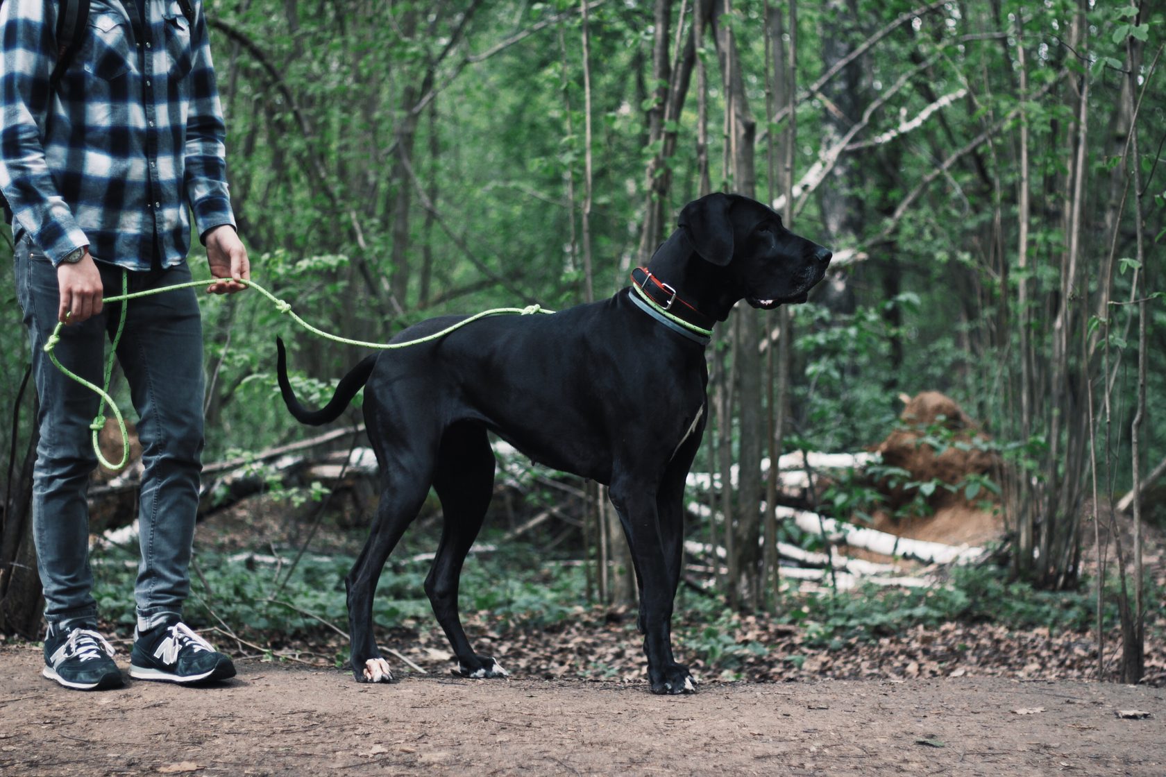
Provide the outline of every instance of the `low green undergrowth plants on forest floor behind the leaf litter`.
{"type": "MultiPolygon", "coordinates": [[[[346,631],[344,575],[352,558],[305,555],[292,570],[290,556],[276,561],[261,555],[198,552],[187,620],[196,628],[219,628],[267,645],[287,645],[297,636],[321,630],[336,636],[346,631]]],[[[94,551],[93,567],[103,617],[128,633],[134,623],[136,549],[94,551]]],[[[378,626],[433,621],[423,587],[428,567],[426,559],[389,561],[374,600],[378,626]]],[[[1147,586],[1150,601],[1160,600],[1163,591],[1152,581],[1147,586]]],[[[1046,628],[1051,633],[1086,633],[1095,627],[1095,602],[1090,581],[1076,591],[1054,593],[1010,581],[996,567],[968,566],[951,570],[947,582],[927,588],[870,585],[848,592],[787,592],[774,614],[758,617],[795,629],[809,647],[834,650],[855,641],[872,642],[918,626],[948,622],[993,623],[1017,631],[1046,628]]],[[[541,558],[532,545],[511,543],[466,560],[461,605],[464,613],[479,614],[499,629],[546,629],[586,612],[585,571],[578,564],[541,558]]],[[[1104,616],[1107,623],[1116,623],[1116,608],[1110,607],[1104,616]]],[[[684,655],[731,672],[768,651],[764,640],[750,636],[745,619],[718,598],[682,588],[676,602],[677,644],[684,655]]],[[[634,630],[634,617],[624,623],[628,631],[634,630]]],[[[1161,629],[1161,623],[1149,626],[1161,629]]],[[[343,641],[337,644],[343,645],[343,641]]],[[[338,652],[336,659],[339,664],[344,656],[338,652]]],[[[599,676],[603,671],[603,666],[596,667],[599,676]]]]}

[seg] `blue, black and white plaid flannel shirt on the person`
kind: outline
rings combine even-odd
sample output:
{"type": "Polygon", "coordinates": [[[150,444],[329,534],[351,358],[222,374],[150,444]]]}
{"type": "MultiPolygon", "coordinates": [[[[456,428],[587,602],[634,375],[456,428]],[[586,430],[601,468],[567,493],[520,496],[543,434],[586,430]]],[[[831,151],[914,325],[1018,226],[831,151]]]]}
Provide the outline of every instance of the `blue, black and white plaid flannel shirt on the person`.
{"type": "Polygon", "coordinates": [[[191,30],[176,0],[91,0],[85,40],[50,93],[58,5],[0,5],[0,190],[13,229],[54,264],[86,245],[132,270],[178,264],[188,206],[199,235],[234,226],[202,2],[191,30]]]}

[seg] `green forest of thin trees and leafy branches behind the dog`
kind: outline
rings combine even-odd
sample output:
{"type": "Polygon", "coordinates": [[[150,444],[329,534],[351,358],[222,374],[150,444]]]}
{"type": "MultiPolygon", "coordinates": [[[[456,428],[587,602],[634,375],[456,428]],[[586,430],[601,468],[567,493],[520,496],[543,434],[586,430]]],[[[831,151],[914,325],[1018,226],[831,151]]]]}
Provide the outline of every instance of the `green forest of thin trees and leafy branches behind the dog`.
{"type": "MultiPolygon", "coordinates": [[[[1002,466],[957,486],[997,495],[999,575],[1035,588],[1080,591],[1082,516],[1096,525],[1161,469],[1166,82],[1153,3],[205,7],[253,275],[329,331],[380,341],[441,313],[604,298],[709,191],[771,203],[835,252],[808,304],[743,309],[708,352],[697,467],[728,482],[737,464],[740,476],[711,497],[714,525],[691,531],[728,549],[714,577],[733,612],[780,609],[775,546],[798,539],[772,509],[764,459],[870,447],[898,423],[901,395],[942,391],[981,422],[1002,466]]],[[[0,595],[14,595],[31,398],[3,288],[0,404],[20,412],[0,452],[0,595]]],[[[254,294],[203,310],[208,461],[305,435],[276,396],[275,333],[309,401],[364,355],[294,330],[254,294]]],[[[619,570],[617,522],[585,493],[567,546],[619,570]]],[[[850,518],[877,496],[859,483],[813,499],[850,518]]],[[[1131,509],[1138,542],[1152,516],[1139,500],[1131,509]]],[[[1135,645],[1160,610],[1140,558],[1124,549],[1130,584],[1098,586],[1116,609],[1088,616],[1098,634],[1112,617],[1135,645]]],[[[631,595],[626,570],[592,584],[604,600],[631,595]]],[[[1135,654],[1123,677],[1140,677],[1135,654]]]]}

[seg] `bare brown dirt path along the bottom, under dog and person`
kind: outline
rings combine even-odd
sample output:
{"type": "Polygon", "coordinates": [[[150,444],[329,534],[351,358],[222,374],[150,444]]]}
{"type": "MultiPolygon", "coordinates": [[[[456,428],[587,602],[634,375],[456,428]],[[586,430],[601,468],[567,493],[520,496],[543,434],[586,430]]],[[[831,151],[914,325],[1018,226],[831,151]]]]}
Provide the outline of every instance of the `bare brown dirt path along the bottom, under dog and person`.
{"type": "Polygon", "coordinates": [[[80,693],[40,667],[37,649],[0,648],[2,775],[1166,775],[1163,688],[961,678],[659,698],[241,662],[213,687],[80,693]]]}

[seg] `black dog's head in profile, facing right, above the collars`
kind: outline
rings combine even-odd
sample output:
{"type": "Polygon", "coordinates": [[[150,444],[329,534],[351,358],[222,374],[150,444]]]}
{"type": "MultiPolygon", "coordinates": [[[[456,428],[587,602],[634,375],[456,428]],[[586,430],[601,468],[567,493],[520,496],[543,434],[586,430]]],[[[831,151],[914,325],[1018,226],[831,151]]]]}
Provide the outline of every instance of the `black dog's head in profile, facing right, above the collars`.
{"type": "Polygon", "coordinates": [[[806,302],[833,256],[786,229],[774,210],[739,195],[693,200],[680,212],[680,226],[701,259],[725,268],[733,301],[765,310],[806,302]]]}

